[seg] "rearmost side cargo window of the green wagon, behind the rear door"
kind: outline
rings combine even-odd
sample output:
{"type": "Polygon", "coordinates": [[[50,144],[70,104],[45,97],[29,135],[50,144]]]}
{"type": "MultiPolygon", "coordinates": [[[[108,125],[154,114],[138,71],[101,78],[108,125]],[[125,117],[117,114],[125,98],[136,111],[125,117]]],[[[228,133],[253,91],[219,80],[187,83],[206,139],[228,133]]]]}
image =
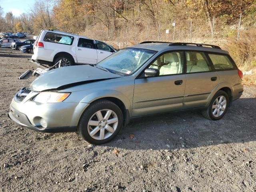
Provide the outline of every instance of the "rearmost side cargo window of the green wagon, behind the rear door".
{"type": "Polygon", "coordinates": [[[223,69],[233,69],[234,65],[232,64],[230,58],[226,55],[220,54],[208,54],[214,68],[216,70],[223,70],[223,69]]]}

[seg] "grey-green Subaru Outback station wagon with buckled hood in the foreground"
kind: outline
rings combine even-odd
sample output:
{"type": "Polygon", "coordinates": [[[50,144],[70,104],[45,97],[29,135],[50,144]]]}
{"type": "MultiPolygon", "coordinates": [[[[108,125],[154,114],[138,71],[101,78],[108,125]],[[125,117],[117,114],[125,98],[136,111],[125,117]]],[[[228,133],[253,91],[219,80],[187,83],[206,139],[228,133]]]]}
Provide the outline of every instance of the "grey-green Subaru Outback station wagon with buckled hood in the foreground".
{"type": "Polygon", "coordinates": [[[77,131],[103,144],[138,116],[200,109],[219,120],[242,95],[241,78],[218,46],[142,42],[96,65],[40,75],[14,96],[8,116],[32,130],[77,131]]]}

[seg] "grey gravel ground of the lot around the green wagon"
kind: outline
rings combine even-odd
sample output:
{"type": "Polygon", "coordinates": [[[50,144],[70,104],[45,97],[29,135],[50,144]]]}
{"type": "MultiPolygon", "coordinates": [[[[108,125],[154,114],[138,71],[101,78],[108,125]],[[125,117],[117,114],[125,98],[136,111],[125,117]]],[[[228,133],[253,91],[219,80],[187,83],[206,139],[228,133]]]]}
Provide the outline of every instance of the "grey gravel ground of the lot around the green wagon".
{"type": "Polygon", "coordinates": [[[35,79],[31,55],[0,48],[0,191],[256,191],[256,87],[222,120],[200,112],[133,120],[110,143],[46,134],[8,119],[14,94],[35,79]]]}

